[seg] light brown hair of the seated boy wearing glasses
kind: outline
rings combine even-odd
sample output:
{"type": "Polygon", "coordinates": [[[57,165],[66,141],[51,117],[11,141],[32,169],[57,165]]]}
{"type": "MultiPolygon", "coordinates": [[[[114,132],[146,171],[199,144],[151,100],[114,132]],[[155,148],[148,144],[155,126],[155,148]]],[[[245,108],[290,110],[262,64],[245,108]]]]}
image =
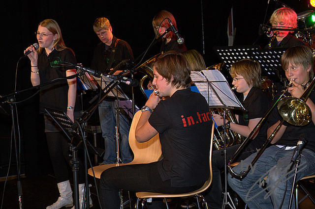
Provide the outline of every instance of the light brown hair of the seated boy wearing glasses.
{"type": "Polygon", "coordinates": [[[261,88],[261,67],[257,61],[242,59],[233,63],[230,75],[232,78],[243,76],[249,86],[261,88]]]}

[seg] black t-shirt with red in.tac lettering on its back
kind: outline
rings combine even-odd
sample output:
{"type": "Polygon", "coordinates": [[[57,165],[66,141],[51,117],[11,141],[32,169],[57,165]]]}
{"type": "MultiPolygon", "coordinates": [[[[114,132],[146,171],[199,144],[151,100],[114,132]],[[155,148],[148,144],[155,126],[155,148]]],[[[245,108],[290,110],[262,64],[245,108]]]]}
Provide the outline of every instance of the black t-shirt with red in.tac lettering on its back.
{"type": "Polygon", "coordinates": [[[211,114],[199,93],[190,88],[160,101],[149,123],[159,133],[163,159],[158,171],[173,187],[194,186],[209,178],[211,114]]]}

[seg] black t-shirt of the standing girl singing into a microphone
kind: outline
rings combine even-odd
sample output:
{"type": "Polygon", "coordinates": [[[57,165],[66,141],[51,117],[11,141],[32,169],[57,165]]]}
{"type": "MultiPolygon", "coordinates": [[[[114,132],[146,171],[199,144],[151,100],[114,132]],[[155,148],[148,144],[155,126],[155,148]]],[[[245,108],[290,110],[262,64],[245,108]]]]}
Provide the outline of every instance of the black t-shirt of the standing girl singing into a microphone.
{"type": "MultiPolygon", "coordinates": [[[[65,67],[51,67],[54,61],[65,61],[76,64],[76,58],[70,49],[62,51],[53,50],[48,56],[43,50],[38,54],[38,71],[40,83],[46,83],[55,78],[65,78],[65,67]]],[[[68,105],[68,83],[67,80],[61,80],[41,88],[40,112],[44,113],[43,107],[50,107],[66,111],[68,105]]]]}

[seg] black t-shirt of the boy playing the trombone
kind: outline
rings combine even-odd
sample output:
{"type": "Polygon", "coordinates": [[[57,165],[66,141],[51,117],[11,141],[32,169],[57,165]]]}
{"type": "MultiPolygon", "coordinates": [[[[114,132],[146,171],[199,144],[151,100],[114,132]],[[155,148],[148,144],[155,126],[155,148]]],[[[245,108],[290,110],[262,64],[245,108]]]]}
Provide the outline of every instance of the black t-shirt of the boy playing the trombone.
{"type": "MultiPolygon", "coordinates": [[[[275,98],[278,99],[280,95],[281,95],[281,92],[279,92],[275,98]]],[[[311,99],[314,103],[315,101],[314,90],[311,92],[309,99],[311,99]]],[[[280,116],[277,107],[275,107],[268,118],[268,127],[271,127],[276,122],[281,121],[281,120],[282,120],[282,117],[280,116]]],[[[308,125],[302,126],[302,127],[288,125],[284,131],[284,134],[282,135],[281,139],[278,140],[276,145],[287,145],[290,147],[294,147],[296,146],[296,143],[300,136],[303,136],[307,140],[305,148],[310,149],[313,152],[315,152],[315,137],[314,137],[315,126],[314,126],[313,121],[311,121],[308,125]]]]}

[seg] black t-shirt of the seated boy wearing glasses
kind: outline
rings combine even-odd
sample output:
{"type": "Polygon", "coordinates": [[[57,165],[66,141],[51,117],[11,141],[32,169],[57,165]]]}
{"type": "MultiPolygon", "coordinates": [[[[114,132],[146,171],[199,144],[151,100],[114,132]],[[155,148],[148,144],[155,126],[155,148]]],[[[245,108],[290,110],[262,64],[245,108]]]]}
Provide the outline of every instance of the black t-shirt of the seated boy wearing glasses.
{"type": "MultiPolygon", "coordinates": [[[[241,94],[240,101],[246,111],[236,111],[239,115],[238,123],[243,126],[248,126],[249,120],[254,118],[262,118],[269,108],[269,100],[265,92],[261,89],[252,87],[247,97],[244,100],[244,95],[241,94]]],[[[267,140],[267,123],[263,123],[260,127],[257,136],[250,141],[247,146],[250,148],[261,148],[267,140]]]]}

